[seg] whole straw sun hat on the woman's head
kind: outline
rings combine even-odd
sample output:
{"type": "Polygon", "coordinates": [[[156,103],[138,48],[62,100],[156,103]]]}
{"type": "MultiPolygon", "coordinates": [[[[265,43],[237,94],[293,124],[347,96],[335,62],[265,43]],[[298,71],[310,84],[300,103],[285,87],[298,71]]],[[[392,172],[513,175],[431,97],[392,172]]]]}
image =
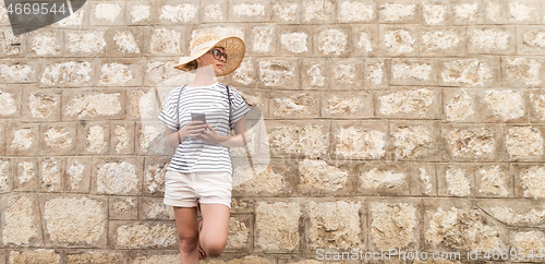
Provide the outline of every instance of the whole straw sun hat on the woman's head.
{"type": "Polygon", "coordinates": [[[182,71],[195,70],[195,64],[190,63],[196,58],[205,55],[208,50],[214,47],[222,47],[225,53],[227,53],[228,60],[223,64],[222,71],[218,76],[229,74],[239,68],[242,59],[244,58],[244,51],[246,50],[244,41],[239,37],[226,37],[220,38],[214,34],[204,34],[196,36],[191,43],[191,55],[189,57],[180,58],[178,64],[174,65],[175,69],[182,71]]]}

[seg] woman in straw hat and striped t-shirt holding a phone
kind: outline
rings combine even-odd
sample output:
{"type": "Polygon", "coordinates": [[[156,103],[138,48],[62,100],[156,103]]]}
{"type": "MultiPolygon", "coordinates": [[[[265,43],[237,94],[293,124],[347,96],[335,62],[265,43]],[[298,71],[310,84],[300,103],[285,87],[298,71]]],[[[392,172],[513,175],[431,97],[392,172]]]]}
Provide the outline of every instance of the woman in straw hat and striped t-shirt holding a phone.
{"type": "Polygon", "coordinates": [[[228,87],[216,76],[234,71],[244,50],[238,37],[195,37],[191,56],[182,57],[174,67],[196,70],[195,77],[170,92],[159,115],[167,125],[168,144],[177,147],[165,177],[164,202],[174,207],[184,264],[218,256],[227,243],[232,190],[229,147],[245,145],[244,116],[250,108],[235,88],[229,87],[228,95],[228,87]],[[192,120],[192,116],[204,116],[205,122],[192,120]],[[197,209],[202,219],[197,219],[197,209]]]}

